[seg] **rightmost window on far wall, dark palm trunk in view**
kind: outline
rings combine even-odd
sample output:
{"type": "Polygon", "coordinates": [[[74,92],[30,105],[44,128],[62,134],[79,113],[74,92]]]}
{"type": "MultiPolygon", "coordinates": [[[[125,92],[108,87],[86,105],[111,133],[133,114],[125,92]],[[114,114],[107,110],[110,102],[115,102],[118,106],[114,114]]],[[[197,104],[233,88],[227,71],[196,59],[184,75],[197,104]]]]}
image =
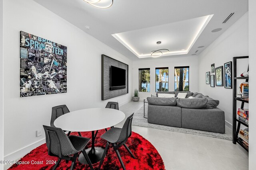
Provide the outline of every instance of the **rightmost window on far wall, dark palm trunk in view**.
{"type": "Polygon", "coordinates": [[[189,66],[174,67],[174,91],[189,91],[189,66]]]}

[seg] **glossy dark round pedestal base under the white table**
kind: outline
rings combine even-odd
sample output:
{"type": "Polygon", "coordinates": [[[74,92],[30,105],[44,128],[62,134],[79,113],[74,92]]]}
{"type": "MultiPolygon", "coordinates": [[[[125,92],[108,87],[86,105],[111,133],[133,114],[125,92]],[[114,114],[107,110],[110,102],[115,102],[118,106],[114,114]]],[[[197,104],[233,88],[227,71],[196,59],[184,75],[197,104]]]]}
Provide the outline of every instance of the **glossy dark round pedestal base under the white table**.
{"type": "MultiPolygon", "coordinates": [[[[103,152],[104,152],[104,148],[94,147],[94,148],[88,148],[85,151],[88,154],[92,164],[94,164],[94,163],[99,162],[101,160],[103,152]]],[[[87,161],[85,160],[84,155],[83,155],[82,152],[79,154],[78,161],[81,164],[88,164],[87,161]]]]}

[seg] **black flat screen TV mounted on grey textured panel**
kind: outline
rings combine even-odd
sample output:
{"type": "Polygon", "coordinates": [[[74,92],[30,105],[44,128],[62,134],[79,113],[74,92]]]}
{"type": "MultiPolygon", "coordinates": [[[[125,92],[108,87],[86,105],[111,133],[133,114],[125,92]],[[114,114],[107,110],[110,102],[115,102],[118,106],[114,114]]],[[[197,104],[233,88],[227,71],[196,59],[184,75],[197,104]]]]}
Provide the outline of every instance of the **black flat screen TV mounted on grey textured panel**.
{"type": "Polygon", "coordinates": [[[126,88],[126,70],[111,66],[110,68],[110,90],[126,88]]]}

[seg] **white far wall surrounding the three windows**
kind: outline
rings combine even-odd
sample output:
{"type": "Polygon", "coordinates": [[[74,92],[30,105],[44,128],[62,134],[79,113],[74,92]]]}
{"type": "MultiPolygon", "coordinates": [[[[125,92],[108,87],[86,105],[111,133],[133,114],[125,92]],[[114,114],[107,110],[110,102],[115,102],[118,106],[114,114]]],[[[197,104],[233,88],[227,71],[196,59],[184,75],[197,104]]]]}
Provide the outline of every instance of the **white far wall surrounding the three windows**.
{"type": "Polygon", "coordinates": [[[148,59],[133,61],[132,79],[133,92],[139,88],[139,68],[150,68],[150,92],[139,92],[140,100],[144,100],[151,94],[156,95],[156,67],[169,68],[169,91],[174,91],[174,67],[189,66],[189,90],[198,91],[198,57],[171,57],[164,59],[148,59]]]}

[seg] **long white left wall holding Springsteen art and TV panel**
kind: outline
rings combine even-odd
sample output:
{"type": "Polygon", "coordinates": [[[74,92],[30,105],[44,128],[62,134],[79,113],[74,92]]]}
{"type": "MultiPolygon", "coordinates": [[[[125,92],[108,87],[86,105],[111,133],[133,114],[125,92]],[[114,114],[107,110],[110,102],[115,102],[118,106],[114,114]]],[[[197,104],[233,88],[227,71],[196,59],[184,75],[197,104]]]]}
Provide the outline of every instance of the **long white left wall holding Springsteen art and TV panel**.
{"type": "MultiPolygon", "coordinates": [[[[66,104],[70,111],[74,111],[89,107],[105,107],[108,101],[118,101],[122,105],[131,100],[132,69],[129,69],[130,93],[101,101],[101,54],[126,63],[132,68],[130,59],[33,0],[4,0],[4,9],[6,9],[4,10],[4,156],[6,160],[24,156],[26,152],[45,142],[45,135],[36,137],[36,130],[42,129],[42,125],[50,125],[53,106],[66,104]],[[68,47],[67,93],[20,98],[21,30],[68,47]]],[[[86,120],[84,121],[86,123],[86,120]]]]}

